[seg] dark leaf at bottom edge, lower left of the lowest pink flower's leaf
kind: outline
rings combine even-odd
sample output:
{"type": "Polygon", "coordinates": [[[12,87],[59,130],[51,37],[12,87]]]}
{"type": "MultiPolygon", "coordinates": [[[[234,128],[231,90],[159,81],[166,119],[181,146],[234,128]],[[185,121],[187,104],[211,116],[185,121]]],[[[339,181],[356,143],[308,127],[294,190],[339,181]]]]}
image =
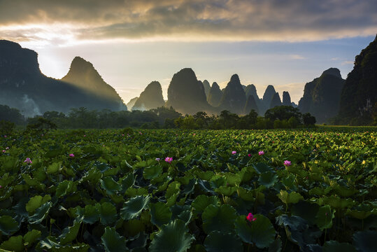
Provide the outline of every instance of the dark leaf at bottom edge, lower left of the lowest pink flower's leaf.
{"type": "Polygon", "coordinates": [[[204,241],[204,247],[208,252],[242,252],[241,239],[232,233],[213,231],[204,241]]]}

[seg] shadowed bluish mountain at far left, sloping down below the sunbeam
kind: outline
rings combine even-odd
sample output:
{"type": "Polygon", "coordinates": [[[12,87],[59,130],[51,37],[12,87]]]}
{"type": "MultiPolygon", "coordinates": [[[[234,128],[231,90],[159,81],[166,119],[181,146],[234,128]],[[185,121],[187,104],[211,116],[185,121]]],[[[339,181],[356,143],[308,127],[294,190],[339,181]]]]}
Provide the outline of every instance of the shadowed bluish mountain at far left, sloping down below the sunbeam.
{"type": "MultiPolygon", "coordinates": [[[[0,101],[25,116],[45,111],[68,112],[71,108],[126,109],[122,100],[88,92],[88,88],[44,76],[33,50],[17,43],[0,41],[0,101]]],[[[115,92],[115,90],[114,90],[115,92]]],[[[115,92],[116,93],[116,92],[115,92]]]]}

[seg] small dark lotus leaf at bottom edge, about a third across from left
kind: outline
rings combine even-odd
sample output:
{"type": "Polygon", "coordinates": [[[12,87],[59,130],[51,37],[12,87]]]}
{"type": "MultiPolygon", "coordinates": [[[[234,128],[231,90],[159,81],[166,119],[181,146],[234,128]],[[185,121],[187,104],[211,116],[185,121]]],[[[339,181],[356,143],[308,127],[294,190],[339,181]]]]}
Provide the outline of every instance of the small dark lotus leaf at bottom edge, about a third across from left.
{"type": "Polygon", "coordinates": [[[125,237],[120,236],[115,228],[106,227],[101,240],[107,252],[129,251],[126,246],[125,237]]]}

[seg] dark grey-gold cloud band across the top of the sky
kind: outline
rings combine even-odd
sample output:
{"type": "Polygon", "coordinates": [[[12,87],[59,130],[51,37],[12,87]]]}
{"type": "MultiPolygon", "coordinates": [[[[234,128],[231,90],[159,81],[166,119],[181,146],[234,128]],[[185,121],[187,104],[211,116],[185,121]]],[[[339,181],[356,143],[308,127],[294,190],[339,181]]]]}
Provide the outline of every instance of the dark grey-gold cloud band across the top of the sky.
{"type": "Polygon", "coordinates": [[[313,41],[376,34],[376,13],[376,0],[0,0],[0,37],[69,24],[79,40],[313,41]]]}

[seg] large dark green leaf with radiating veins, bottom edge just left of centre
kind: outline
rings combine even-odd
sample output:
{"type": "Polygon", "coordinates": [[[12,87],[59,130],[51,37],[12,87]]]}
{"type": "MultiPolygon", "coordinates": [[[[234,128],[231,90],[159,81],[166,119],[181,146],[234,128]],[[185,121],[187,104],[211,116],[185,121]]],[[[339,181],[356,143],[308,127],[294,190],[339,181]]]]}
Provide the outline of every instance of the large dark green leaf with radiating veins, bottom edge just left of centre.
{"type": "Polygon", "coordinates": [[[150,243],[150,252],[185,252],[190,248],[194,237],[190,235],[181,220],[163,225],[150,243]]]}

